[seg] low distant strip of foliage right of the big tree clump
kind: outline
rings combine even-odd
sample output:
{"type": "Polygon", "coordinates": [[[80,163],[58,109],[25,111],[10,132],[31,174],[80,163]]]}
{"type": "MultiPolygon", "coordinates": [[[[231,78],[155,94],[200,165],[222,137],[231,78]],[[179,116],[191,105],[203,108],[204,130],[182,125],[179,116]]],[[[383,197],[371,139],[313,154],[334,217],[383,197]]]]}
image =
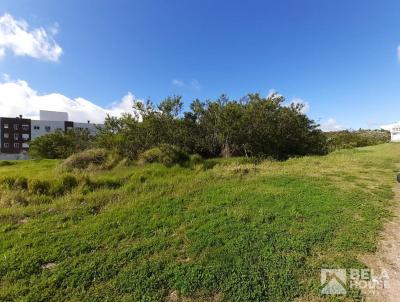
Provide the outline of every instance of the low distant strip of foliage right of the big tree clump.
{"type": "Polygon", "coordinates": [[[328,132],[326,136],[329,151],[372,146],[390,141],[390,132],[386,130],[345,130],[328,132]]]}

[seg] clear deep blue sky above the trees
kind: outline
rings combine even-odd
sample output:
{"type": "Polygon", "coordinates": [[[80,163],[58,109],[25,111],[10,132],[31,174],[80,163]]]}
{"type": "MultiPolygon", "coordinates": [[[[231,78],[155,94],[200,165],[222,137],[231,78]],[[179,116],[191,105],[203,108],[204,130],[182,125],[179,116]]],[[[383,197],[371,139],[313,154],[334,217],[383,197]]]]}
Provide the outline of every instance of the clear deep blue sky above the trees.
{"type": "Polygon", "coordinates": [[[400,120],[399,1],[2,0],[5,13],[62,48],[49,60],[4,47],[3,82],[38,95],[108,108],[128,92],[189,104],[274,89],[332,127],[400,120]]]}

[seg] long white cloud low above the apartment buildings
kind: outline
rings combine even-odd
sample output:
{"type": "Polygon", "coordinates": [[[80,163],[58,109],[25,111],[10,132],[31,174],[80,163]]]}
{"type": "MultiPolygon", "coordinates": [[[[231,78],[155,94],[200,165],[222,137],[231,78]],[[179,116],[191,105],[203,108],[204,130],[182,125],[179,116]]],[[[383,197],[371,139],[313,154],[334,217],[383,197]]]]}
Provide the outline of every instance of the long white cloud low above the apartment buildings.
{"type": "Polygon", "coordinates": [[[124,112],[133,113],[134,100],[135,97],[129,92],[121,101],[105,108],[81,97],[72,99],[60,93],[40,95],[26,81],[13,81],[7,75],[3,75],[3,82],[0,82],[1,116],[5,117],[22,114],[25,117],[38,119],[39,110],[43,109],[68,112],[69,119],[75,122],[90,120],[102,123],[107,114],[120,116],[124,112]]]}

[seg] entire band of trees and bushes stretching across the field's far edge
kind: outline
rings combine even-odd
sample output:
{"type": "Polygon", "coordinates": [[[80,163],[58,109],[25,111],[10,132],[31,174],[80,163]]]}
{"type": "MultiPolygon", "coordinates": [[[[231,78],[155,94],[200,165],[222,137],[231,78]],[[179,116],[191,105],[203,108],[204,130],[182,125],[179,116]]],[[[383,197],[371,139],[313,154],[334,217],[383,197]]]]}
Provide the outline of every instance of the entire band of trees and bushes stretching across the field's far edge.
{"type": "MultiPolygon", "coordinates": [[[[182,112],[181,97],[169,97],[159,105],[137,101],[133,114],[125,113],[119,118],[108,116],[95,137],[87,130],[56,131],[33,140],[30,155],[67,158],[89,148],[102,148],[119,157],[163,162],[162,157],[171,156],[169,151],[175,148],[175,151],[203,157],[252,156],[282,160],[390,141],[390,133],[384,130],[323,133],[302,113],[301,104],[287,106],[284,102],[277,94],[267,98],[249,94],[240,100],[222,95],[217,100],[195,100],[188,111],[182,112]]],[[[167,165],[171,162],[166,161],[167,165]]]]}

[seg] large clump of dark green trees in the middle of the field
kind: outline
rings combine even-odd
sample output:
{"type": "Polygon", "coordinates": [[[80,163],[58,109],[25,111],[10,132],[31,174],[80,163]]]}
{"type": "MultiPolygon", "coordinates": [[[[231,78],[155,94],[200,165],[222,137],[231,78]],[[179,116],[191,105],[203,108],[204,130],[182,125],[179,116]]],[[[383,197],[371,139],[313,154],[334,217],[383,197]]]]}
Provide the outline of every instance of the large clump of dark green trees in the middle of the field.
{"type": "Polygon", "coordinates": [[[214,101],[195,100],[182,114],[180,97],[158,106],[136,102],[135,114],[107,117],[96,138],[100,147],[128,158],[160,144],[189,153],[214,156],[290,156],[325,154],[326,138],[318,125],[301,113],[301,105],[284,105],[284,98],[250,94],[241,100],[225,95],[214,101]]]}

